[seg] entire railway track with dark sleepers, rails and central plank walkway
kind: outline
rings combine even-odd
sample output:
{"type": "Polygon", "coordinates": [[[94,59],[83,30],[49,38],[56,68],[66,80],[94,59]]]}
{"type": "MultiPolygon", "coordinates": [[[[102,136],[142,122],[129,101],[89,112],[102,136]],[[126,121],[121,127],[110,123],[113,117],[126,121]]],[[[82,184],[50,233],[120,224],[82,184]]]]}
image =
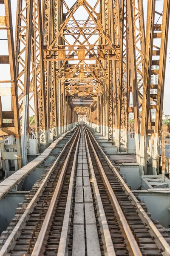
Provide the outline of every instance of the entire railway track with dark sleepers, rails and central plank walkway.
{"type": "Polygon", "coordinates": [[[170,255],[170,239],[85,125],[1,235],[0,256],[170,255]]]}

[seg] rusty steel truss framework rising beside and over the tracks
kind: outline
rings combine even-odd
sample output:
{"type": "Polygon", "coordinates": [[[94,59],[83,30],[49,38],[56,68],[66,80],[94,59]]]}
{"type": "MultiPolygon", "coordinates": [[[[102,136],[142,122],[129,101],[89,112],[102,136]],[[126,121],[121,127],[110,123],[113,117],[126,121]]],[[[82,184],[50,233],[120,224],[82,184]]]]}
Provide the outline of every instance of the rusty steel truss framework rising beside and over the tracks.
{"type": "Polygon", "coordinates": [[[144,22],[143,0],[17,0],[13,40],[11,1],[0,1],[0,63],[11,74],[0,76],[0,96],[11,96],[10,111],[0,108],[3,170],[25,165],[86,114],[117,152],[136,153],[140,174],[147,163],[159,173],[170,3],[147,5],[144,22]]]}

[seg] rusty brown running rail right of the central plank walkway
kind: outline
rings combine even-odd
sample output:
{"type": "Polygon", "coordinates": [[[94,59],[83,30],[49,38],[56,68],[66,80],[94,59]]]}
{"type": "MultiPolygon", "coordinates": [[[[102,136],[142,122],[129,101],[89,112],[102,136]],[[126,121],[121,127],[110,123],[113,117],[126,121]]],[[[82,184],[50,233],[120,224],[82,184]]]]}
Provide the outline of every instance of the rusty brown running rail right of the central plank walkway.
{"type": "Polygon", "coordinates": [[[119,205],[119,202],[117,201],[116,195],[113,192],[111,184],[108,181],[108,178],[105,174],[105,171],[104,171],[104,169],[102,167],[102,164],[99,160],[99,157],[96,153],[94,145],[91,142],[91,138],[90,138],[88,132],[87,132],[87,135],[88,135],[88,139],[89,139],[91,148],[93,150],[94,157],[96,159],[97,165],[99,166],[99,171],[102,175],[102,179],[105,183],[106,189],[108,190],[108,193],[109,193],[109,196],[110,196],[110,199],[111,199],[111,202],[112,202],[113,209],[115,209],[115,215],[118,218],[119,223],[122,224],[122,229],[123,229],[122,231],[125,232],[125,237],[124,238],[125,238],[125,241],[126,241],[126,244],[127,244],[127,248],[128,248],[128,250],[130,250],[130,253],[131,253],[130,255],[142,256],[141,250],[139,249],[139,246],[138,246],[138,244],[137,244],[137,242],[136,242],[136,240],[133,236],[133,233],[130,230],[129,224],[127,223],[127,220],[126,220],[125,215],[122,211],[122,208],[119,205]]]}

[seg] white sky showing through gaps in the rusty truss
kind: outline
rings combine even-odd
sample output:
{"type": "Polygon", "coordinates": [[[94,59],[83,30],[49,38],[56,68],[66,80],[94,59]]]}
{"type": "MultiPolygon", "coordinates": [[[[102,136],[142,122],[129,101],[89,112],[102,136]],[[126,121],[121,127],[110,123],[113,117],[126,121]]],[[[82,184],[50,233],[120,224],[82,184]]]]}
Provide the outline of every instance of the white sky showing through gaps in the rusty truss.
{"type": "MultiPolygon", "coordinates": [[[[66,1],[68,6],[72,6],[72,4],[75,2],[75,0],[67,0],[66,1]]],[[[88,0],[88,3],[94,3],[96,1],[88,0]]],[[[146,16],[147,16],[147,0],[143,0],[144,2],[144,18],[146,22],[146,16]]],[[[157,1],[157,3],[162,2],[162,0],[157,1]]],[[[15,30],[15,20],[16,20],[16,6],[17,6],[17,0],[11,0],[11,8],[12,8],[12,19],[13,19],[13,29],[15,30]]],[[[83,7],[81,6],[76,14],[74,15],[77,20],[85,19],[85,13],[83,12],[83,7]],[[81,10],[82,9],[82,10],[81,10]]],[[[4,10],[0,9],[0,16],[4,16],[4,10]]],[[[6,35],[4,34],[3,30],[0,30],[0,39],[6,38],[6,35]]],[[[8,55],[8,48],[6,41],[0,40],[0,55],[8,55]]],[[[4,65],[0,64],[0,80],[5,80],[6,76],[9,74],[9,68],[7,67],[4,69],[4,65]]],[[[10,79],[10,78],[8,78],[10,79]]],[[[7,84],[6,84],[7,85],[7,84]]],[[[10,86],[10,84],[8,85],[10,86]]],[[[4,87],[4,84],[0,84],[0,87],[4,87]]],[[[2,104],[3,104],[3,111],[9,111],[10,105],[11,105],[11,99],[10,97],[2,97],[2,104]]],[[[168,38],[168,47],[167,47],[167,64],[166,64],[166,74],[165,74],[165,86],[164,86],[164,113],[170,114],[170,26],[169,26],[169,38],[168,38]]],[[[30,113],[31,115],[31,113],[30,113]]]]}

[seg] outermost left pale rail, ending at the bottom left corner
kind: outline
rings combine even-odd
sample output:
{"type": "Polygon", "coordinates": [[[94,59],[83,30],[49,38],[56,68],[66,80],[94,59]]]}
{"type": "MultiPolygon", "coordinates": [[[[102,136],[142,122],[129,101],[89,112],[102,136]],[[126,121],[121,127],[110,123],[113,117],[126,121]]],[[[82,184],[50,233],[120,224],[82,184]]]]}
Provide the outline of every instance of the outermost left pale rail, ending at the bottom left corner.
{"type": "MultiPolygon", "coordinates": [[[[79,128],[77,128],[77,129],[79,129],[79,128]]],[[[77,131],[77,129],[76,129],[76,131],[77,131]]],[[[75,131],[75,133],[76,133],[76,131],[75,131]]],[[[59,153],[59,156],[57,157],[57,159],[55,160],[54,164],[49,169],[48,174],[46,175],[45,179],[41,183],[40,188],[37,190],[36,194],[34,195],[34,197],[32,198],[31,202],[26,207],[26,210],[22,214],[22,216],[21,216],[20,220],[18,221],[17,225],[14,227],[14,229],[12,230],[12,232],[9,235],[8,239],[6,240],[5,244],[1,248],[0,256],[6,256],[7,253],[9,252],[9,250],[13,249],[13,247],[14,247],[14,245],[16,243],[16,240],[20,237],[21,230],[24,229],[24,227],[26,226],[26,221],[29,219],[30,214],[33,211],[34,207],[36,206],[38,199],[42,195],[42,192],[45,189],[45,186],[46,186],[46,184],[48,182],[48,179],[50,178],[50,176],[51,176],[51,174],[52,174],[56,164],[58,163],[59,159],[61,158],[63,152],[65,151],[65,148],[68,145],[68,143],[71,142],[74,134],[72,135],[70,140],[65,144],[64,148],[62,149],[62,151],[59,153]]]]}

